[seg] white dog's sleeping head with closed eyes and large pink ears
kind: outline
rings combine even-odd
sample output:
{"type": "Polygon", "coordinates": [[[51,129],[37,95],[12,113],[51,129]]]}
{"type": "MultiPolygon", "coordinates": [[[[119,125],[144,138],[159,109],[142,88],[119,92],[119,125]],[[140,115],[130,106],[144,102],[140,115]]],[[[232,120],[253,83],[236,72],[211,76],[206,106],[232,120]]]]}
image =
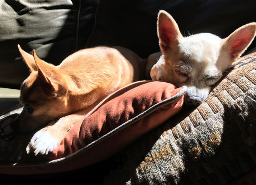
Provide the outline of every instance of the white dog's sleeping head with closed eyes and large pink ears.
{"type": "Polygon", "coordinates": [[[173,17],[161,10],[158,37],[162,56],[153,66],[153,80],[187,86],[185,102],[199,105],[233,62],[247,49],[256,34],[256,23],[246,24],[225,39],[201,33],[183,37],[173,17]]]}

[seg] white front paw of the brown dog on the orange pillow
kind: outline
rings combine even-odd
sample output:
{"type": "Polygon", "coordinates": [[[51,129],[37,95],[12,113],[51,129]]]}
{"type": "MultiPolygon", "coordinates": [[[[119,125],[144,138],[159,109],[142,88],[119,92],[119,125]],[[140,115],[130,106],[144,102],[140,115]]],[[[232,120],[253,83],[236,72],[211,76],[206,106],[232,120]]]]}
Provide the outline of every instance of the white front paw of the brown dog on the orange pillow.
{"type": "Polygon", "coordinates": [[[56,149],[57,144],[58,141],[47,131],[37,131],[26,147],[26,152],[29,154],[30,151],[34,151],[35,156],[38,153],[47,155],[49,151],[56,149]]]}

